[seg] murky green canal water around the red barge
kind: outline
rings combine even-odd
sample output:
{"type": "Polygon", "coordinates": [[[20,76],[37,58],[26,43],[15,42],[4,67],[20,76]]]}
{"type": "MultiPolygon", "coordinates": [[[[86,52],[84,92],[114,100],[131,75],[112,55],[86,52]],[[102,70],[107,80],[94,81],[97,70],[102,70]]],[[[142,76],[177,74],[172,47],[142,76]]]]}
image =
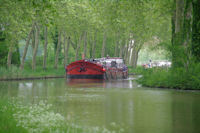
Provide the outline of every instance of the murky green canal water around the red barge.
{"type": "Polygon", "coordinates": [[[24,104],[46,101],[81,126],[120,127],[125,133],[200,132],[200,91],[143,88],[133,79],[0,82],[0,96],[24,104]]]}

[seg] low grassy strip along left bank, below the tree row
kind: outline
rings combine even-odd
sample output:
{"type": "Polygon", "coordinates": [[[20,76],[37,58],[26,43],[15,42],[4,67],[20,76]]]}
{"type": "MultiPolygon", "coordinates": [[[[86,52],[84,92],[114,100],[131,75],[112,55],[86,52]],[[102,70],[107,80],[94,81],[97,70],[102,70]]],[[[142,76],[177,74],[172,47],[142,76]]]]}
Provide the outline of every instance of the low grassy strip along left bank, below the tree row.
{"type": "Polygon", "coordinates": [[[36,70],[32,70],[31,67],[25,67],[24,70],[20,70],[16,66],[11,68],[0,67],[0,79],[63,76],[64,74],[65,69],[63,66],[58,66],[58,69],[48,66],[45,70],[42,67],[37,67],[36,70]]]}

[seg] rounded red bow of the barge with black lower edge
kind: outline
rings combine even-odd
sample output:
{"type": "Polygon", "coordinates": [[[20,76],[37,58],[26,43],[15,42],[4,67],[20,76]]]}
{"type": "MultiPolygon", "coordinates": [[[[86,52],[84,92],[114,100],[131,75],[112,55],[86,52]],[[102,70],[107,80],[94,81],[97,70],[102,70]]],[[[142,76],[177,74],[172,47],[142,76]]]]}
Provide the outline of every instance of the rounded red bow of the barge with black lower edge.
{"type": "Polygon", "coordinates": [[[102,65],[85,60],[72,62],[66,67],[69,79],[104,79],[104,73],[102,65]]]}

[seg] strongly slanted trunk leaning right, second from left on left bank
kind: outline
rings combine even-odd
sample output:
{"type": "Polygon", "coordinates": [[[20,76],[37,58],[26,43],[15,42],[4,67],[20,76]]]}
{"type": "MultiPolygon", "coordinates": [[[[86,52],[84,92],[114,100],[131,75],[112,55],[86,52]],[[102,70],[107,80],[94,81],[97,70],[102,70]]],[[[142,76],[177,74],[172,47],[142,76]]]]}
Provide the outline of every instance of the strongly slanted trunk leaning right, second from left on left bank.
{"type": "MultiPolygon", "coordinates": [[[[33,34],[33,30],[34,30],[34,24],[32,25],[31,31],[30,31],[29,34],[28,34],[28,38],[27,38],[27,40],[26,40],[26,45],[25,45],[25,47],[24,47],[24,52],[23,52],[22,60],[21,60],[21,64],[20,64],[20,69],[21,69],[21,70],[24,69],[24,61],[25,61],[26,54],[27,54],[27,51],[28,51],[28,46],[29,46],[29,43],[30,43],[31,35],[33,34]]],[[[34,39],[34,40],[35,40],[35,39],[34,39]]]]}

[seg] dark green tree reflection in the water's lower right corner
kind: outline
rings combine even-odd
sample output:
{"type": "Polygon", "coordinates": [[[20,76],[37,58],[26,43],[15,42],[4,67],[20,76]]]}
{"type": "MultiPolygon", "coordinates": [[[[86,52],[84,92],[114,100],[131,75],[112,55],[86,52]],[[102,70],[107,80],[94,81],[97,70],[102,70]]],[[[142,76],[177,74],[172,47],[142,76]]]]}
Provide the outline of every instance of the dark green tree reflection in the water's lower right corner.
{"type": "Polygon", "coordinates": [[[173,95],[172,118],[174,133],[200,132],[200,97],[188,92],[173,95]],[[188,93],[188,94],[187,94],[188,93]]]}

